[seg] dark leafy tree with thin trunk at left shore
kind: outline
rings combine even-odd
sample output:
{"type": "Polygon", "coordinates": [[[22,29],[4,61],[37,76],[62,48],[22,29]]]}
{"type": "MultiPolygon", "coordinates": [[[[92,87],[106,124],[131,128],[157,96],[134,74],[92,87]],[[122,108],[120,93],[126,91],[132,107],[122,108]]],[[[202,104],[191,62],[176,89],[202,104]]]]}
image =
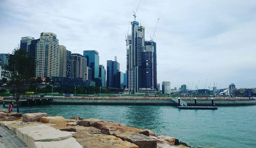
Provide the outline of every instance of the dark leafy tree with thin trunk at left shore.
{"type": "Polygon", "coordinates": [[[24,84],[29,83],[34,76],[33,58],[26,56],[26,50],[16,47],[9,56],[7,69],[10,71],[10,84],[13,88],[13,97],[16,100],[17,112],[19,112],[19,96],[25,92],[24,84]]]}

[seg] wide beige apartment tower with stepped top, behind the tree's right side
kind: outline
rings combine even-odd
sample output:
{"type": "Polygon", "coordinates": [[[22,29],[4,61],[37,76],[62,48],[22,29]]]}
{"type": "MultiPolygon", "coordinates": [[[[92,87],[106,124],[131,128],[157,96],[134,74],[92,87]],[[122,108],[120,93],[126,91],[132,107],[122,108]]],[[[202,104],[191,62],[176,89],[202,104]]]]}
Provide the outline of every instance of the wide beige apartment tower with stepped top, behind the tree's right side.
{"type": "Polygon", "coordinates": [[[41,33],[35,52],[36,77],[59,76],[60,50],[58,42],[56,34],[41,33]]]}

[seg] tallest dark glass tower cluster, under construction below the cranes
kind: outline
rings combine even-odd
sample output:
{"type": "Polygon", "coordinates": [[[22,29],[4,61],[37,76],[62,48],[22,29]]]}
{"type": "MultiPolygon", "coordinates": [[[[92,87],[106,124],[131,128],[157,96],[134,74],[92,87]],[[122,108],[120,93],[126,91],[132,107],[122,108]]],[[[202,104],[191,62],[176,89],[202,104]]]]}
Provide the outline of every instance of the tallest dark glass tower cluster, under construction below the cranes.
{"type": "Polygon", "coordinates": [[[157,87],[156,43],[145,41],[145,27],[132,21],[132,34],[126,38],[127,89],[138,92],[139,88],[157,87]]]}

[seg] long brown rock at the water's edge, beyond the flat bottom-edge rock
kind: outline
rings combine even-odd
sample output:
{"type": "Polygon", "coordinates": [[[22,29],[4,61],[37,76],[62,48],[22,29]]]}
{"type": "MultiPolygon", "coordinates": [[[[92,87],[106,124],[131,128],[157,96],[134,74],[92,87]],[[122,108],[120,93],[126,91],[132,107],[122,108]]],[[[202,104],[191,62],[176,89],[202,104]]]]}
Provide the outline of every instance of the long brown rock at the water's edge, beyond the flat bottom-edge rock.
{"type": "Polygon", "coordinates": [[[123,130],[150,136],[150,132],[148,132],[147,130],[127,127],[125,125],[118,124],[115,122],[95,122],[93,125],[94,127],[100,129],[102,133],[108,135],[112,135],[111,131],[123,130]]]}

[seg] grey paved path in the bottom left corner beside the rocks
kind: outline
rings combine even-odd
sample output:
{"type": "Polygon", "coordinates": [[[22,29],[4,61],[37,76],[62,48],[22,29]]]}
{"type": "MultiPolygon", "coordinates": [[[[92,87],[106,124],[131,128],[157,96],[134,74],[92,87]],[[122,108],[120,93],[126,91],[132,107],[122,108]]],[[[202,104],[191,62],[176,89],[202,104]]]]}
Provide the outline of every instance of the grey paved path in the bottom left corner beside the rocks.
{"type": "Polygon", "coordinates": [[[12,131],[0,126],[0,148],[28,147],[12,131]]]}

